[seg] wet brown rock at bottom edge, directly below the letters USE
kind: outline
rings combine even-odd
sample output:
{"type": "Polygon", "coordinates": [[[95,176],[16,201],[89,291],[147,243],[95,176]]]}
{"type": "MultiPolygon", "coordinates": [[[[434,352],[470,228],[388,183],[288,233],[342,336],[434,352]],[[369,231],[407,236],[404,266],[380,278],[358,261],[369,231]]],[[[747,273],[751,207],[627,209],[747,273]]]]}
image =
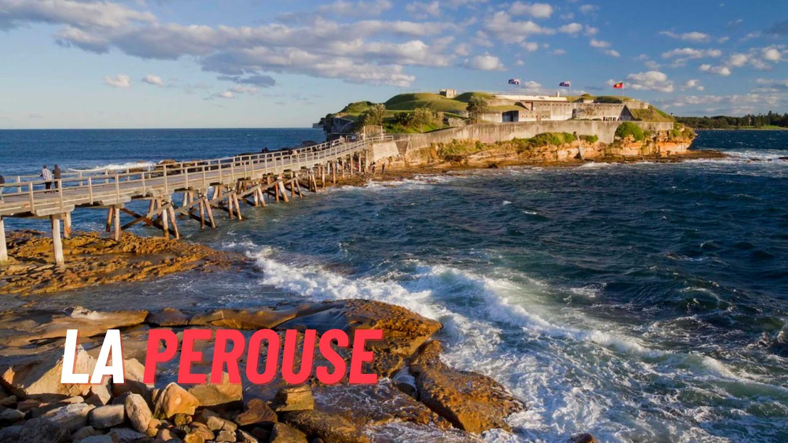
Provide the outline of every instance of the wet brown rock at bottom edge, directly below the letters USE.
{"type": "Polygon", "coordinates": [[[369,443],[370,438],[339,415],[321,411],[292,411],[281,415],[284,423],[304,434],[314,435],[330,443],[369,443]]]}

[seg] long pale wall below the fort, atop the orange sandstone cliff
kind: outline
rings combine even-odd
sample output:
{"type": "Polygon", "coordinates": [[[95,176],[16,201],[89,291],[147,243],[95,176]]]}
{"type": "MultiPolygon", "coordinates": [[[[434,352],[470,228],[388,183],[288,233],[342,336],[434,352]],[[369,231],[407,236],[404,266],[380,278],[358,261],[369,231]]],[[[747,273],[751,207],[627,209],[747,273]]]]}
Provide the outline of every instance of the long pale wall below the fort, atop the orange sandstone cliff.
{"type": "MultiPolygon", "coordinates": [[[[448,128],[426,134],[390,134],[394,140],[409,140],[409,150],[429,147],[431,143],[448,143],[452,140],[481,140],[484,143],[528,139],[542,132],[577,132],[578,136],[597,136],[603,143],[612,143],[615,129],[621,121],[523,121],[519,123],[484,123],[467,125],[462,128],[448,128]]],[[[656,121],[633,121],[644,130],[670,131],[673,123],[656,121]]]]}

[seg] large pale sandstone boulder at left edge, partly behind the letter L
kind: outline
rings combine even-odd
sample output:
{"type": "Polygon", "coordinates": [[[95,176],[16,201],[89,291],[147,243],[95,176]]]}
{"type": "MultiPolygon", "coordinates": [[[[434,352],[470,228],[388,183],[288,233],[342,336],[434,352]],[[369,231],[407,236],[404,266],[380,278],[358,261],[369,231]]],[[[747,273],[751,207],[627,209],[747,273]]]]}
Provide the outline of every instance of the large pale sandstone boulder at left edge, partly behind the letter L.
{"type": "MultiPolygon", "coordinates": [[[[0,384],[14,395],[28,398],[39,394],[80,396],[90,391],[90,385],[61,384],[63,350],[35,354],[9,355],[9,349],[0,350],[0,384]]],[[[95,359],[77,345],[74,372],[91,374],[95,359]]]]}

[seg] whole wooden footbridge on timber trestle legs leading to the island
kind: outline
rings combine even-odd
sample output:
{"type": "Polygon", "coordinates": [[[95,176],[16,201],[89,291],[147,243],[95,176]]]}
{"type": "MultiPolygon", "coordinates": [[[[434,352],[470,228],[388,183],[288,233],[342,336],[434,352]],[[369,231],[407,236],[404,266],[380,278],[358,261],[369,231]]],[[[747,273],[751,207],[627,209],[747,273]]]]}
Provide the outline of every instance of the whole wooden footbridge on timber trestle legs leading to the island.
{"type": "Polygon", "coordinates": [[[106,231],[115,240],[121,231],[143,223],[161,229],[164,236],[180,237],[178,216],[199,221],[200,229],[216,227],[214,209],[230,219],[243,219],[240,203],[266,206],[266,196],[289,202],[303,196],[302,185],[317,192],[326,177],[336,183],[337,175],[366,173],[374,143],[390,136],[368,137],[349,143],[338,140],[290,151],[242,154],[227,158],[173,162],[125,171],[64,173],[52,181],[51,189],[39,176],[9,177],[0,185],[5,200],[0,203],[0,263],[8,260],[4,218],[50,218],[54,261],[64,263],[62,236],[71,236],[71,213],[76,208],[107,211],[106,231]],[[288,198],[288,193],[290,197],[288,198]],[[180,204],[173,195],[182,194],[180,204]],[[149,200],[145,214],[125,207],[132,200],[149,200]],[[121,214],[131,220],[121,225],[121,214]]]}

